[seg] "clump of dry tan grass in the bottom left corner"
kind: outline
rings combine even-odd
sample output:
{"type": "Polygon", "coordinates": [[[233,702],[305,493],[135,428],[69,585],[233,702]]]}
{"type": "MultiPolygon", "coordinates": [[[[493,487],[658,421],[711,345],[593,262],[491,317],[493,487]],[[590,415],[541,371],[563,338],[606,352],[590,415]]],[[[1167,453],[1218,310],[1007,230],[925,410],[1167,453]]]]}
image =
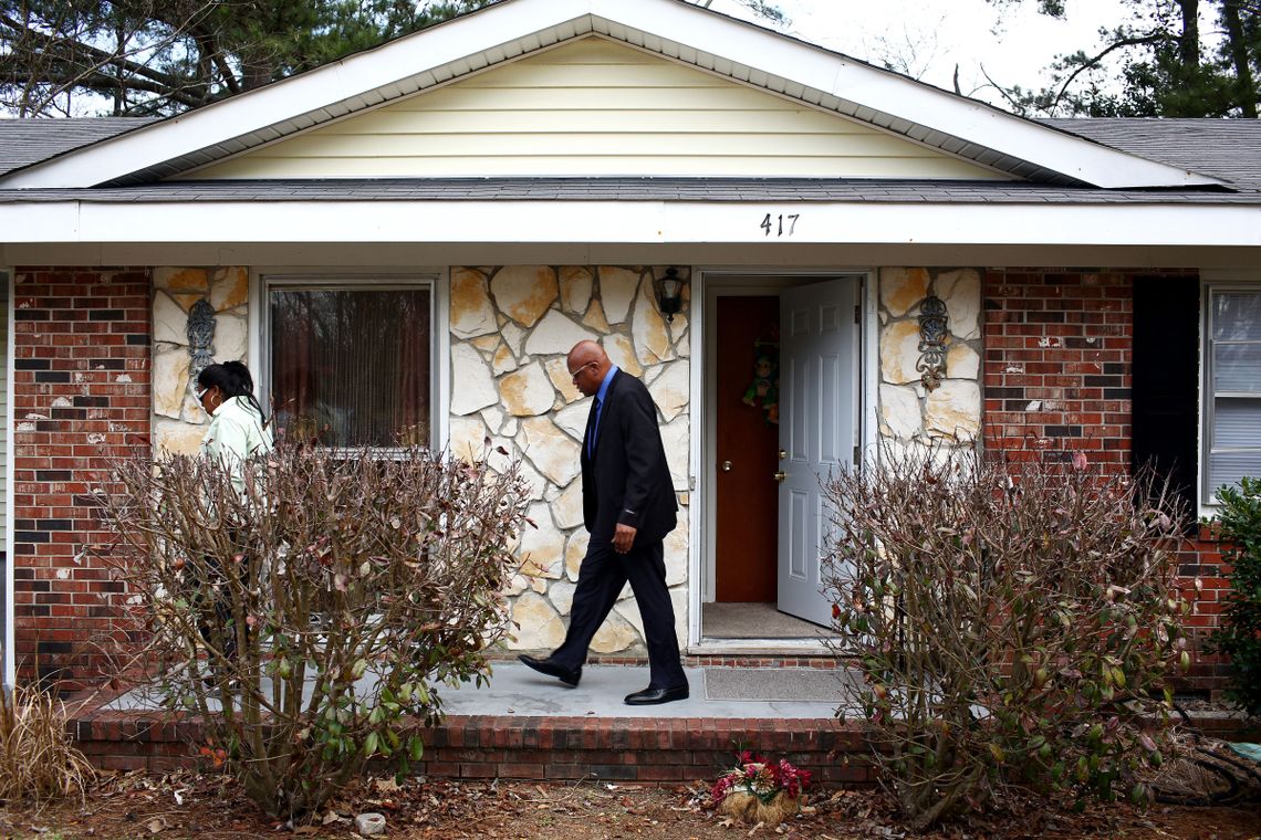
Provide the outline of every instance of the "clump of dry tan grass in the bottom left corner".
{"type": "Polygon", "coordinates": [[[44,691],[0,691],[0,800],[43,803],[86,796],[96,771],[71,743],[66,718],[66,705],[44,691]]]}

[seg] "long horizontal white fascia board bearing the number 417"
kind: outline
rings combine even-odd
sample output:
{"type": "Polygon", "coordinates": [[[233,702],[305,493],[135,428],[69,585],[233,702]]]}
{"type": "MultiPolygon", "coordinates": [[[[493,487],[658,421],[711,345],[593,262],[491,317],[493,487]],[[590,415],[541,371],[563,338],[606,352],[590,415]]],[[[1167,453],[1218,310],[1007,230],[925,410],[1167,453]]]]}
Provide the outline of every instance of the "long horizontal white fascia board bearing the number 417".
{"type": "Polygon", "coordinates": [[[1261,207],[188,201],[0,205],[9,243],[719,243],[1261,247],[1261,207]],[[768,236],[763,228],[772,217],[768,236]],[[779,217],[784,218],[779,233],[779,217]],[[796,215],[796,219],[791,217],[796,215]],[[488,232],[502,230],[502,238],[488,232]]]}

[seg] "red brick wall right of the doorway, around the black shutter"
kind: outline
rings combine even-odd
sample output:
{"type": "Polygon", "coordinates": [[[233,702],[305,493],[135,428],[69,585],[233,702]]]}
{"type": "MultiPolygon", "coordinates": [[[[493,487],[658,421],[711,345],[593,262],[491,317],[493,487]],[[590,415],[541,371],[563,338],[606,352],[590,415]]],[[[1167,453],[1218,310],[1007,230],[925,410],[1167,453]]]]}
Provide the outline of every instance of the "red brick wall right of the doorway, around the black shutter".
{"type": "MultiPolygon", "coordinates": [[[[987,452],[1020,461],[1038,452],[1084,452],[1112,474],[1131,468],[1134,283],[1140,276],[1194,271],[1002,268],[985,275],[985,422],[987,452]]],[[[1229,589],[1221,545],[1207,529],[1182,553],[1182,588],[1195,594],[1187,617],[1198,650],[1217,626],[1229,589]]],[[[1189,684],[1223,688],[1221,657],[1198,654],[1189,684]]]]}

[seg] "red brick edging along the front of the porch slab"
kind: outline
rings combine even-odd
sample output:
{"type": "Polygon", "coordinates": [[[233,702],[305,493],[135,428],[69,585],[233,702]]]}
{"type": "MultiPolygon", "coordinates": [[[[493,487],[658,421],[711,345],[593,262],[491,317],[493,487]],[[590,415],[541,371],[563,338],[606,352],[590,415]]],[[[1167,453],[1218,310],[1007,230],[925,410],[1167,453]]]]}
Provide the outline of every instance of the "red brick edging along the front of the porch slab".
{"type": "MultiPolygon", "coordinates": [[[[197,767],[200,722],[160,712],[95,710],[67,724],[101,769],[197,767]]],[[[449,778],[694,782],[714,780],[741,749],[787,758],[828,786],[874,782],[861,730],[835,718],[593,718],[450,715],[421,729],[419,775],[449,778]]]]}

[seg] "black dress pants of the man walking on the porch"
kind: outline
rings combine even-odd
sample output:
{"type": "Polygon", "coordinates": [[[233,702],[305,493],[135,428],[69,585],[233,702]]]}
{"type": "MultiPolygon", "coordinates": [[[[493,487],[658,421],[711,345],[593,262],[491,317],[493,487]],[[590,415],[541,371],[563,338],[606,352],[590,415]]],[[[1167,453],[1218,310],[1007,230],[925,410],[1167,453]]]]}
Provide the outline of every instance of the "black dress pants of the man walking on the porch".
{"type": "Polygon", "coordinates": [[[618,554],[612,542],[591,538],[578,573],[569,631],[565,633],[565,642],[552,652],[551,659],[572,670],[583,666],[591,637],[608,618],[628,581],[639,606],[648,642],[648,688],[672,689],[685,685],[687,678],[678,661],[675,604],[666,586],[665,547],[660,539],[642,542],[637,538],[629,552],[618,554]]]}

